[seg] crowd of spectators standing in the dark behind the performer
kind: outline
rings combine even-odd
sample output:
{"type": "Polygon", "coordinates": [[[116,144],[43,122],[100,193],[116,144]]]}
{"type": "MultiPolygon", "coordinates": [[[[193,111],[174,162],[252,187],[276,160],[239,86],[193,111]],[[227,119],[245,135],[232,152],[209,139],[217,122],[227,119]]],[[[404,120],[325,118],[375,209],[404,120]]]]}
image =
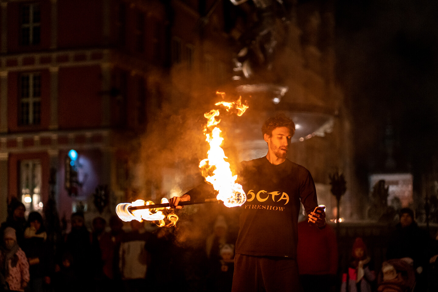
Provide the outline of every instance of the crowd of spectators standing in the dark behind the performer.
{"type": "MultiPolygon", "coordinates": [[[[191,221],[153,228],[113,215],[109,226],[96,217],[87,227],[84,214],[74,213],[70,231],[55,243],[40,213],[26,220],[25,206],[12,201],[0,227],[0,291],[231,291],[236,229],[230,231],[230,221],[218,215],[205,232],[191,221]]],[[[332,226],[320,230],[303,221],[298,233],[304,292],[437,291],[438,234],[430,239],[410,209],[400,212],[381,267],[374,266],[366,238],[355,239],[348,265],[339,267],[332,226]],[[314,270],[314,261],[324,264],[314,270]]]]}

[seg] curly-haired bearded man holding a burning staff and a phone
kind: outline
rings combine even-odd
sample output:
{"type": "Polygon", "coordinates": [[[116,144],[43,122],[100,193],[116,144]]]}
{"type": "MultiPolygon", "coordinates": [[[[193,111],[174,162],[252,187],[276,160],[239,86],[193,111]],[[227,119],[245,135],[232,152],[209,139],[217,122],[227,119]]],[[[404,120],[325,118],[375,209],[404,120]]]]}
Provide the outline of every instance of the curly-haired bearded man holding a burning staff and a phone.
{"type": "MultiPolygon", "coordinates": [[[[286,158],[295,133],[293,121],[283,114],[277,115],[266,120],[261,130],[268,144],[267,155],[239,166],[238,180],[247,201],[240,207],[232,291],[299,291],[300,201],[308,221],[320,229],[325,228],[325,212],[315,212],[318,201],[310,172],[286,158]]],[[[208,193],[208,189],[205,183],[181,197],[173,197],[170,207],[183,208],[179,205],[181,201],[194,200],[208,193]]]]}

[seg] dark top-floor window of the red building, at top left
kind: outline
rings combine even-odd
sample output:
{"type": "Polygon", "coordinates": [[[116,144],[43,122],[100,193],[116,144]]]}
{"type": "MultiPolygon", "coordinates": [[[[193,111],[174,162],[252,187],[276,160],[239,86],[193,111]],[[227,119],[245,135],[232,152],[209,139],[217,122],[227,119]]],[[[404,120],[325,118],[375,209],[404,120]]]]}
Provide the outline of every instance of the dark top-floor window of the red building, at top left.
{"type": "Polygon", "coordinates": [[[22,46],[39,45],[41,40],[39,3],[20,6],[20,41],[22,46]]]}

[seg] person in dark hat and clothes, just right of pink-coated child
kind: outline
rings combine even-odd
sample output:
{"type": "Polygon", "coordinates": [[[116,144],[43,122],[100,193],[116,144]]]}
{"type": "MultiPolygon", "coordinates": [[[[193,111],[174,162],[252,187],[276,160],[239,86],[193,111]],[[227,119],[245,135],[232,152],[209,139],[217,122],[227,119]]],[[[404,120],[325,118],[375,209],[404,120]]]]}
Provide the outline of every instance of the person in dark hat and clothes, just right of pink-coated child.
{"type": "Polygon", "coordinates": [[[47,233],[42,216],[38,212],[31,212],[28,216],[24,233],[23,250],[29,261],[30,292],[42,292],[43,285],[50,284],[50,264],[48,257],[47,233]]]}

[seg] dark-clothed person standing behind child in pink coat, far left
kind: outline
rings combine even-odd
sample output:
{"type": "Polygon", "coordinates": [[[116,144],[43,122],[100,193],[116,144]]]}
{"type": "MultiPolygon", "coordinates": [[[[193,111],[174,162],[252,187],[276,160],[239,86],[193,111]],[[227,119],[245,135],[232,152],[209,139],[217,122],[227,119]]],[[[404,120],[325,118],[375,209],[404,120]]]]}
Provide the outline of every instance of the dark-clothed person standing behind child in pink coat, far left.
{"type": "Polygon", "coordinates": [[[3,234],[3,231],[6,227],[12,227],[15,229],[17,236],[18,246],[23,245],[24,241],[24,232],[25,232],[25,205],[18,201],[18,199],[12,199],[11,203],[7,206],[7,218],[6,222],[3,222],[0,226],[0,233],[3,234]]]}

